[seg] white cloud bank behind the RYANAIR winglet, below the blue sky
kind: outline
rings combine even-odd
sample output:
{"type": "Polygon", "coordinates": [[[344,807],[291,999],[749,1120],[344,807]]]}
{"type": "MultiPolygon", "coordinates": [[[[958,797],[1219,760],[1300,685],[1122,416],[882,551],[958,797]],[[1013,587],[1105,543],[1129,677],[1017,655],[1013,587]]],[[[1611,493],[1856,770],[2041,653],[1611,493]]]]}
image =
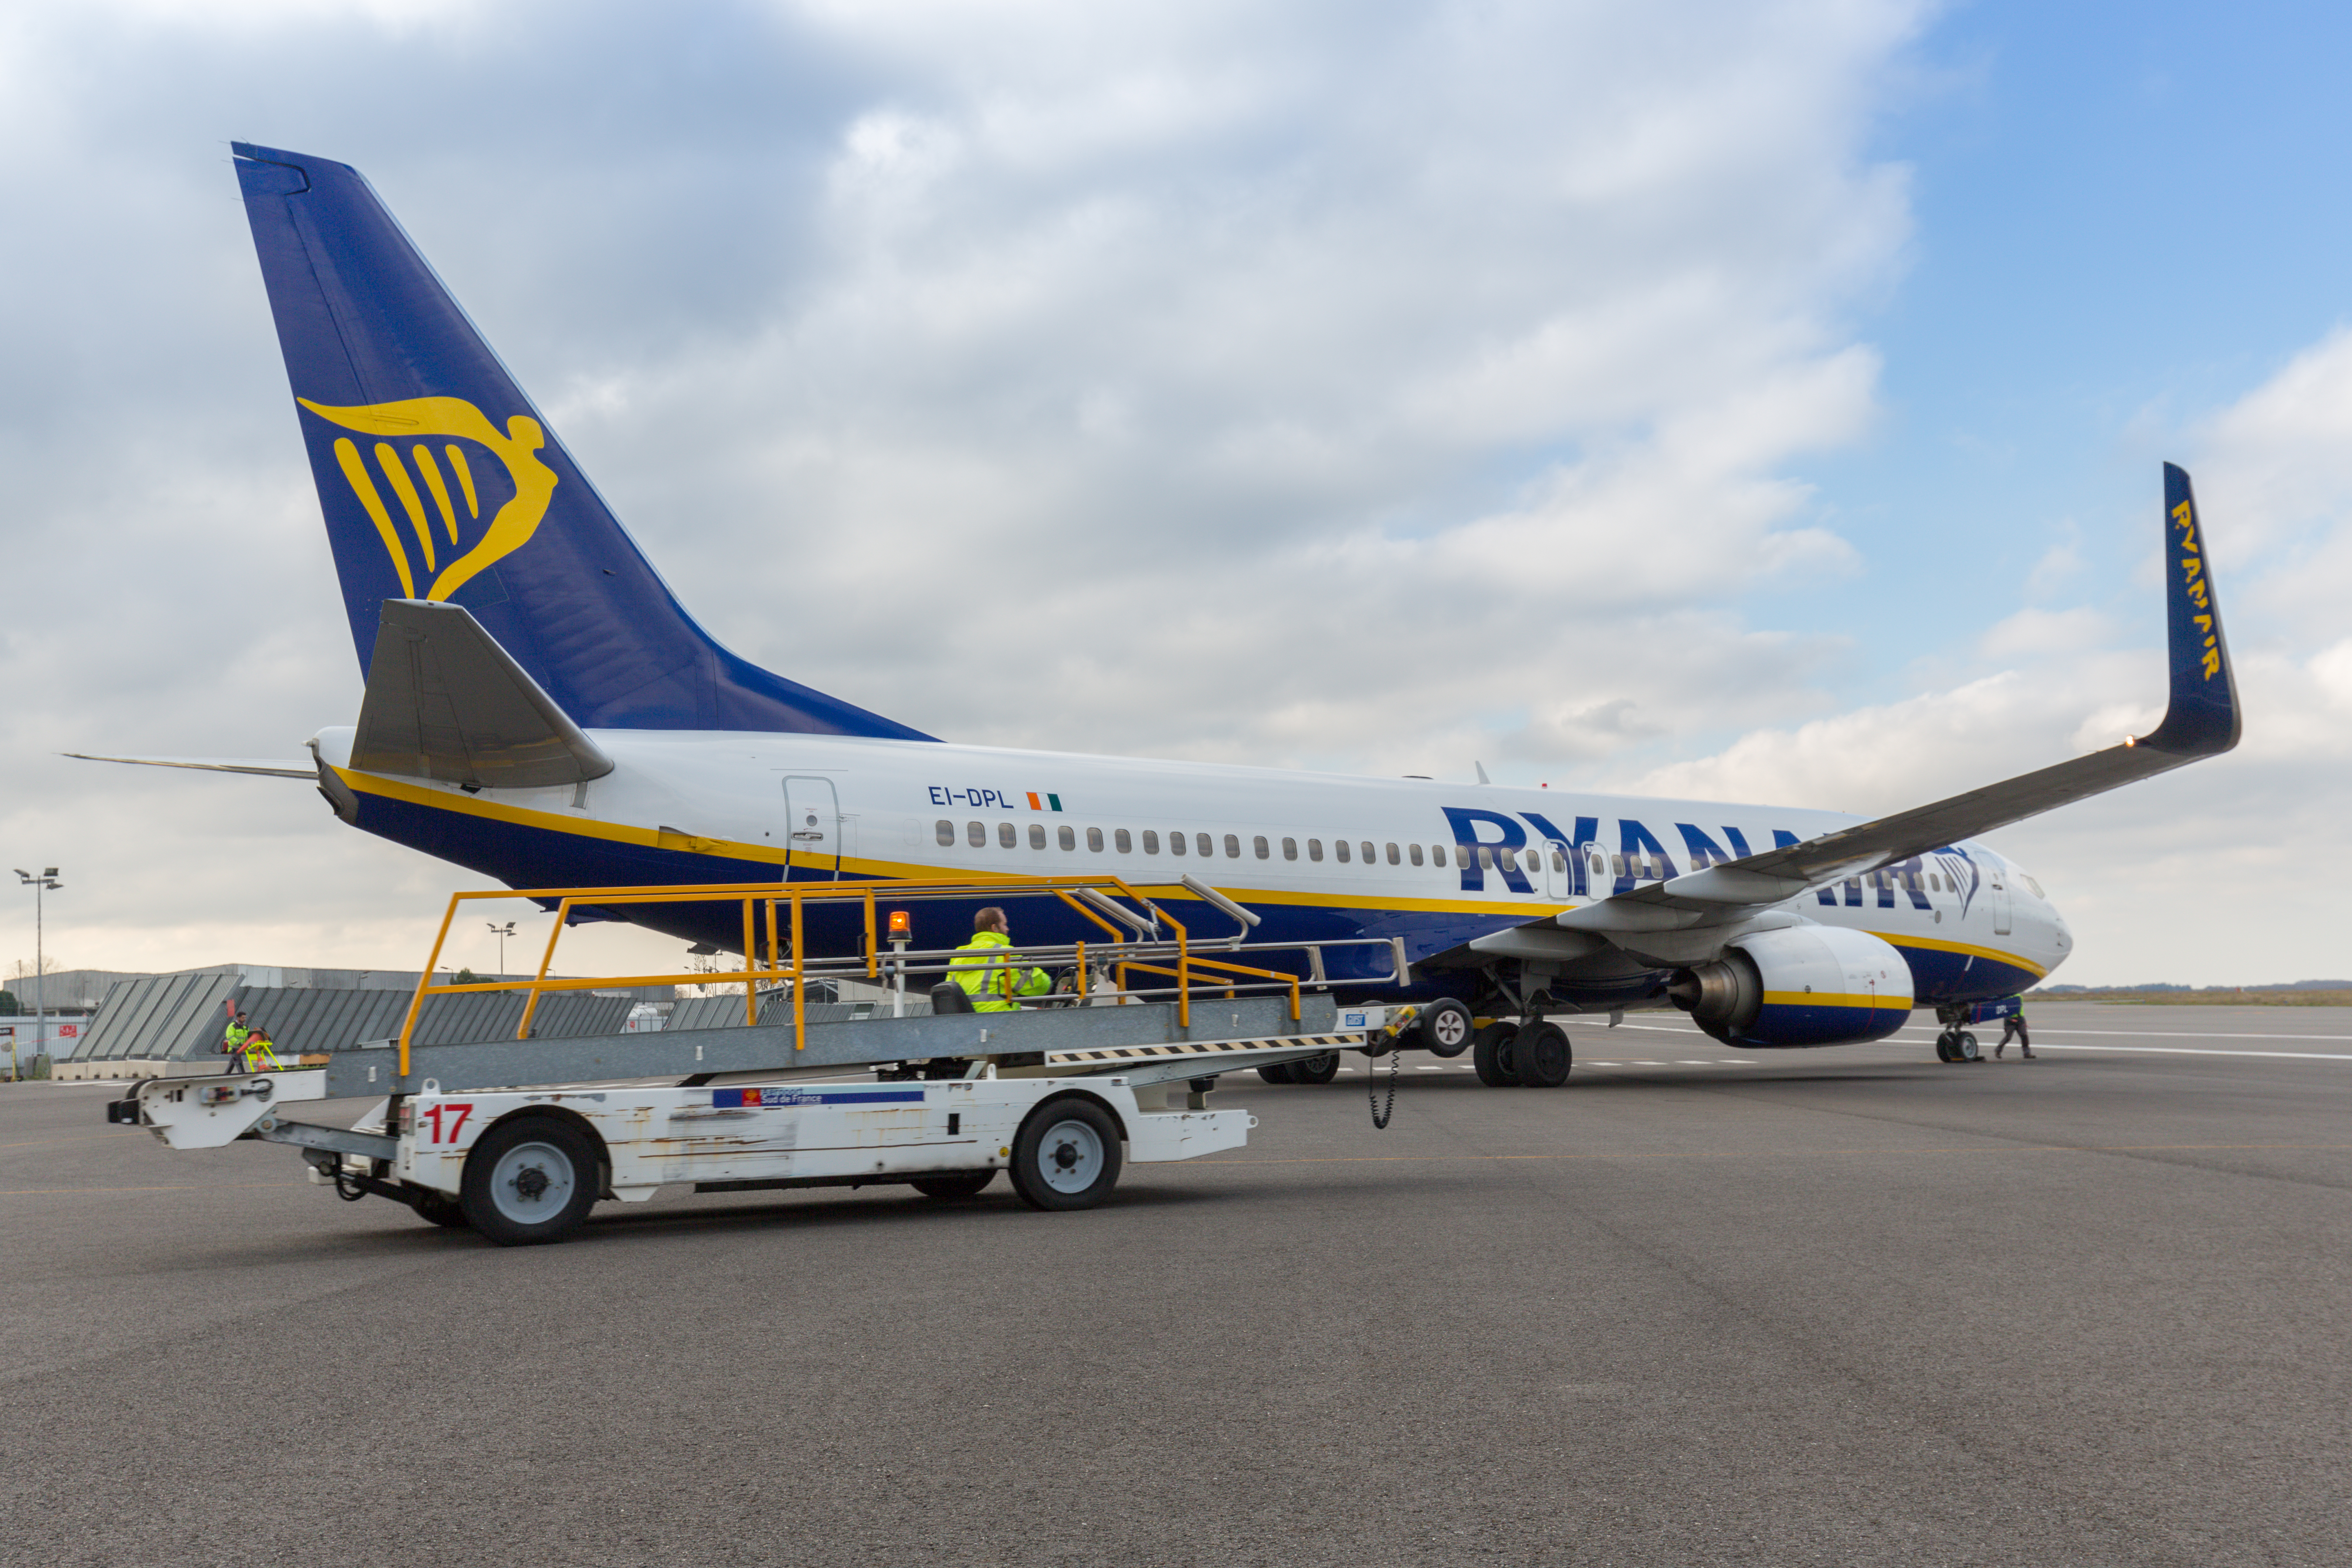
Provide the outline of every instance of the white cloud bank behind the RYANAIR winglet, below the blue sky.
{"type": "MultiPolygon", "coordinates": [[[[2333,331],[2192,433],[2197,498],[2246,738],[2227,757],[2020,823],[1994,842],[2077,929],[2058,980],[2343,978],[2336,884],[2352,762],[2352,334],[2333,331]]],[[[2157,562],[2150,505],[2145,564],[2157,562]]],[[[2072,543],[2034,574],[2072,576],[2072,543]],[[2058,562],[2060,569],[2053,569],[2058,562]]],[[[1990,672],[1797,726],[1635,780],[1668,795],[1896,811],[2147,733],[2164,710],[2159,576],[2136,632],[2107,607],[2020,609],[1980,639],[1990,672]],[[2138,646],[2136,646],[2138,644],[2138,646]]]]}

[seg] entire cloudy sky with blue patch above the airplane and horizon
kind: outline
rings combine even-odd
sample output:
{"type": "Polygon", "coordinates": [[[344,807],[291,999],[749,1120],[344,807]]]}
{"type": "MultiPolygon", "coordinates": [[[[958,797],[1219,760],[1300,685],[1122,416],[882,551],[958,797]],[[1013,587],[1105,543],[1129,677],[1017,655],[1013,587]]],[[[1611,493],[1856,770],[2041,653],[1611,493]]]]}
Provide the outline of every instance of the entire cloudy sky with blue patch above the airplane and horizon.
{"type": "Polygon", "coordinates": [[[299,783],[54,757],[358,710],[252,139],[374,181],[706,625],[957,741],[1919,804],[2154,722],[2183,461],[2246,743],[1994,842],[2060,980],[2352,973],[2347,33],[0,7],[0,844],[68,966],[414,966],[470,884],[299,783]]]}

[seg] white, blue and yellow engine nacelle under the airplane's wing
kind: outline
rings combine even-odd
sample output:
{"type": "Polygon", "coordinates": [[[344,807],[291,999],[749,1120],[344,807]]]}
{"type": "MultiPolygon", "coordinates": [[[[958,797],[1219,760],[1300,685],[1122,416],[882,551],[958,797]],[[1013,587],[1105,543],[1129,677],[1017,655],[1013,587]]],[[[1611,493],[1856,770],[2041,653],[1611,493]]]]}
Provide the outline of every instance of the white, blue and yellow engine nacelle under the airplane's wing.
{"type": "Polygon", "coordinates": [[[1668,1001],[1726,1046],[1851,1046],[1912,1011],[1910,964],[1867,931],[1783,926],[1675,971],[1668,1001]]]}

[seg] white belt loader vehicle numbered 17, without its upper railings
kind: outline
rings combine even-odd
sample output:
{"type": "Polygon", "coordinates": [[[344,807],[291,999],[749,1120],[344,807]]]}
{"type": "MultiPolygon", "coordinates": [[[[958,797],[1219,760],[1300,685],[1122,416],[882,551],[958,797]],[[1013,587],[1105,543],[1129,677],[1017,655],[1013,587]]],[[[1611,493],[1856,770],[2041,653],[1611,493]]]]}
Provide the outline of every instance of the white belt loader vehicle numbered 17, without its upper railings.
{"type": "Polygon", "coordinates": [[[388,1197],[435,1225],[532,1244],[564,1239],[600,1199],[644,1201],[668,1185],[901,1182],[955,1199],[1007,1171],[1033,1208],[1087,1208],[1124,1161],[1249,1140],[1256,1117],[1209,1110],[1218,1074],[1367,1048],[1362,1032],[1334,1027],[1329,997],[1305,997],[1296,1020],[1272,997],[1195,1001],[1190,1030],[1174,1013],[1073,1006],[416,1046],[407,1077],[390,1051],[341,1051],[296,1072],[148,1079],[108,1119],[174,1150],[287,1143],[341,1197],[388,1197]],[[292,1114],[365,1093],[381,1098],[353,1126],[292,1114]]]}

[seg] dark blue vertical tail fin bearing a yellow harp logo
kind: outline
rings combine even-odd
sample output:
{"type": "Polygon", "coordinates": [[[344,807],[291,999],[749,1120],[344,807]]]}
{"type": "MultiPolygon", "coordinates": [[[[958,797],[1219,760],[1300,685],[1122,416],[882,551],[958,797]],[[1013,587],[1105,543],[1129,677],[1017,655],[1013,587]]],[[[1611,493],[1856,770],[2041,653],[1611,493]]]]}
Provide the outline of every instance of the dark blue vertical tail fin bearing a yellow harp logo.
{"type": "Polygon", "coordinates": [[[362,670],[383,599],[435,599],[588,729],[931,738],[722,649],[367,181],[233,146],[362,670]]]}

